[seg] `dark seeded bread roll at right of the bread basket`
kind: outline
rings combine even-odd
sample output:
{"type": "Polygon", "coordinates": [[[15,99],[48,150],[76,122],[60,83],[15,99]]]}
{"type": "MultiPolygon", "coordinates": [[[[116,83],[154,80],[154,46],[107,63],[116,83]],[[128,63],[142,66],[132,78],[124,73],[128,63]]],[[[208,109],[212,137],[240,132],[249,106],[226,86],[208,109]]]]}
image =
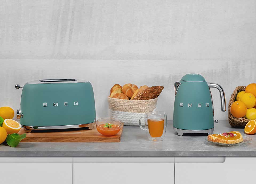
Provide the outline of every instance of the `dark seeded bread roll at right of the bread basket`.
{"type": "Polygon", "coordinates": [[[134,100],[149,100],[149,99],[154,99],[159,96],[159,94],[163,90],[163,86],[152,86],[149,87],[145,90],[143,90],[140,94],[135,96],[133,99],[134,100]]]}

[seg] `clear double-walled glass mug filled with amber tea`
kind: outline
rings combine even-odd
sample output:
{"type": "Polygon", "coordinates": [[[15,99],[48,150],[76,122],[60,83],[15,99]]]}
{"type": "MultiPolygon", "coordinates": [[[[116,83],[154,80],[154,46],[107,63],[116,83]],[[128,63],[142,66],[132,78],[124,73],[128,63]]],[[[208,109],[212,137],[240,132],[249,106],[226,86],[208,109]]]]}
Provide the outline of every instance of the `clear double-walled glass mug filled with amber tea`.
{"type": "Polygon", "coordinates": [[[139,126],[145,130],[150,141],[162,141],[165,137],[167,117],[165,112],[150,111],[145,113],[145,129],[141,125],[139,118],[139,126]]]}

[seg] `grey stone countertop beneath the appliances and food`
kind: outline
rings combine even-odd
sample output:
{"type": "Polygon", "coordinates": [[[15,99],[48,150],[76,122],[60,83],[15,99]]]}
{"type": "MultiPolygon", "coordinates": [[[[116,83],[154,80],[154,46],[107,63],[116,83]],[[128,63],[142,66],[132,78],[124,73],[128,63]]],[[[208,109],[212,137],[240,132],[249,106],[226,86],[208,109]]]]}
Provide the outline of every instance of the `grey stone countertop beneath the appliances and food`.
{"type": "MultiPolygon", "coordinates": [[[[243,129],[230,127],[228,121],[215,123],[214,133],[243,129]]],[[[119,143],[19,143],[16,148],[0,145],[1,157],[181,157],[181,156],[256,156],[256,134],[246,135],[252,142],[241,146],[219,146],[205,140],[206,136],[178,136],[172,121],[167,123],[165,140],[148,141],[146,132],[138,126],[125,126],[119,143]]]]}

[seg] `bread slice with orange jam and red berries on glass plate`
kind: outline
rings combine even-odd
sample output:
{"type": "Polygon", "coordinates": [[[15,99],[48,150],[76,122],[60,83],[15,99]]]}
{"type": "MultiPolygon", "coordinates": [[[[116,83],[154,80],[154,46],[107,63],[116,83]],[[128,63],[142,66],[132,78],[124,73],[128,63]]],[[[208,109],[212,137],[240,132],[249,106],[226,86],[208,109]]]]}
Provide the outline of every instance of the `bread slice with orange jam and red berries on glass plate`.
{"type": "Polygon", "coordinates": [[[222,134],[208,135],[208,141],[219,142],[223,144],[236,144],[243,141],[243,136],[238,131],[224,132],[222,134]]]}

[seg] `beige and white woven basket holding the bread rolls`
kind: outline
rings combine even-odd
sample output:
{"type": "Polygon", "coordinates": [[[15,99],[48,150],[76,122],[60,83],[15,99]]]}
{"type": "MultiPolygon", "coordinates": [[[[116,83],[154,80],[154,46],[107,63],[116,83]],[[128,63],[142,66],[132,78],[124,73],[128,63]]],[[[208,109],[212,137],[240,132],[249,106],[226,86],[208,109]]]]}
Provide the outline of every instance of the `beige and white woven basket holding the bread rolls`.
{"type": "Polygon", "coordinates": [[[157,99],[124,100],[108,97],[110,117],[127,126],[139,126],[139,118],[144,117],[145,112],[156,109],[157,99]]]}

